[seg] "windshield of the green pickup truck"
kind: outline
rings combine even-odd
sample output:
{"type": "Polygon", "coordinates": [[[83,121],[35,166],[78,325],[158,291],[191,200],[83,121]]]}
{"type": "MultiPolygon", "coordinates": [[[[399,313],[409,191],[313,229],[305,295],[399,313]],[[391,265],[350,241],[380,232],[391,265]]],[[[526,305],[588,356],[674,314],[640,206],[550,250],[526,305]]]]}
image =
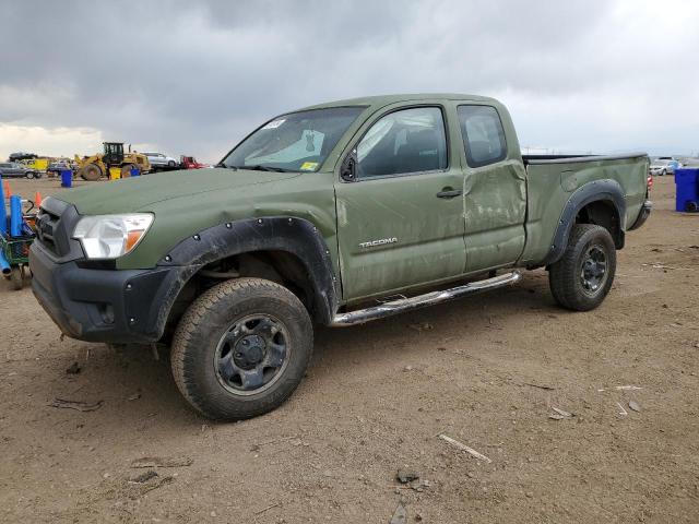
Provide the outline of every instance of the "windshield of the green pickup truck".
{"type": "Polygon", "coordinates": [[[333,107],[282,115],[240,142],[225,167],[316,171],[364,107],[333,107]]]}

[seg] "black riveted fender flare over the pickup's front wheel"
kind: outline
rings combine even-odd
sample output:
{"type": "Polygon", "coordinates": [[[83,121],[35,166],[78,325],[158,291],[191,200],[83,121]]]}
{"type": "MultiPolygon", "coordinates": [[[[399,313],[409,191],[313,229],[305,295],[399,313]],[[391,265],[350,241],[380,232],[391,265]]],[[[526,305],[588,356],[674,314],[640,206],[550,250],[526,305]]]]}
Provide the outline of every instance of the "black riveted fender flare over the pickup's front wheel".
{"type": "Polygon", "coordinates": [[[253,251],[286,251],[298,258],[313,290],[317,320],[329,324],[336,308],[339,282],[330,250],[321,231],[309,221],[273,216],[225,222],[180,241],[161,259],[158,266],[178,266],[177,282],[168,293],[166,313],[189,279],[204,265],[253,251]]]}

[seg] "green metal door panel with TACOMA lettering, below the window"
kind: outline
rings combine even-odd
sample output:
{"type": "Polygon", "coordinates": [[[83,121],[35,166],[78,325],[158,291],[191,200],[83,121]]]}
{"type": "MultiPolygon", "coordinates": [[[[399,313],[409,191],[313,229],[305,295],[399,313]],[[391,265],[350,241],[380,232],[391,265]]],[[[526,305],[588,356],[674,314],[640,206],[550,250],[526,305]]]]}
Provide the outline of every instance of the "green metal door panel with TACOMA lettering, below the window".
{"type": "Polygon", "coordinates": [[[335,188],[343,296],[353,300],[461,275],[465,264],[459,169],[335,188]]]}

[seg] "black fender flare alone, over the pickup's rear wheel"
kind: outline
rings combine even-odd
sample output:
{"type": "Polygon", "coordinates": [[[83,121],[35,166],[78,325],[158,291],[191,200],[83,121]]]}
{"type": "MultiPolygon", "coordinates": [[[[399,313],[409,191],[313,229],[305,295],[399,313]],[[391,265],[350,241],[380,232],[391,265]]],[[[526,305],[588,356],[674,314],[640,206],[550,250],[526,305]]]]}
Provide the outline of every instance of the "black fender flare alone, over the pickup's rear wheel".
{"type": "Polygon", "coordinates": [[[620,237],[618,239],[615,238],[614,241],[618,248],[624,246],[626,225],[626,199],[624,196],[624,189],[616,180],[595,180],[578,188],[570,195],[570,199],[568,199],[558,219],[558,226],[556,227],[556,233],[554,234],[548,254],[543,265],[553,264],[564,255],[578,213],[580,213],[580,210],[585,205],[593,202],[605,202],[614,207],[618,218],[620,237]]]}

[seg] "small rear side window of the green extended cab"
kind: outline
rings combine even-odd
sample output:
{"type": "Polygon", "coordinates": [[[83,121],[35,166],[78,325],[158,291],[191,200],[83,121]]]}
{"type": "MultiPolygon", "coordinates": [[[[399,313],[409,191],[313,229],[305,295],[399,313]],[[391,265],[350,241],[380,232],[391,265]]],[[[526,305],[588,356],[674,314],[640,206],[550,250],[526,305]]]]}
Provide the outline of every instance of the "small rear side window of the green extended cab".
{"type": "Polygon", "coordinates": [[[495,107],[459,106],[458,114],[469,166],[487,166],[505,159],[505,130],[495,107]]]}

